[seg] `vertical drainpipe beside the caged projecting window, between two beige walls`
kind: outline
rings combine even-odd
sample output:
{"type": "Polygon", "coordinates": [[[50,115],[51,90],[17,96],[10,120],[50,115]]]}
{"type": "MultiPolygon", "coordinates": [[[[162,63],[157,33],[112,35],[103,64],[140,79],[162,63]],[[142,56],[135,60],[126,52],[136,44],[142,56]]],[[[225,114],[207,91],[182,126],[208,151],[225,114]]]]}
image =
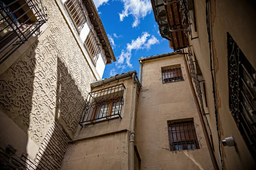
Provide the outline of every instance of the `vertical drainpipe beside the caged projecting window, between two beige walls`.
{"type": "Polygon", "coordinates": [[[128,147],[128,160],[129,160],[129,170],[134,170],[134,137],[135,137],[135,116],[136,116],[136,104],[137,104],[137,81],[135,73],[132,74],[132,79],[134,83],[133,89],[133,111],[131,114],[131,121],[130,121],[130,137],[129,137],[129,147],[128,147]]]}

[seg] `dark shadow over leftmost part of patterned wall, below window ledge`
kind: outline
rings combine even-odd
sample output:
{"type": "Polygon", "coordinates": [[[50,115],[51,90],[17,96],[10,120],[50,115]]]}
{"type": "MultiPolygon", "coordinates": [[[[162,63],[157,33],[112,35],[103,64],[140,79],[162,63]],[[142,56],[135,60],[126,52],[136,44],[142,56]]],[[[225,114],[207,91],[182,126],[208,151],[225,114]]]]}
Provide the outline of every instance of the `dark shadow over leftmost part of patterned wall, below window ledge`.
{"type": "Polygon", "coordinates": [[[0,169],[25,167],[19,157],[27,154],[37,45],[38,41],[0,75],[0,169]]]}

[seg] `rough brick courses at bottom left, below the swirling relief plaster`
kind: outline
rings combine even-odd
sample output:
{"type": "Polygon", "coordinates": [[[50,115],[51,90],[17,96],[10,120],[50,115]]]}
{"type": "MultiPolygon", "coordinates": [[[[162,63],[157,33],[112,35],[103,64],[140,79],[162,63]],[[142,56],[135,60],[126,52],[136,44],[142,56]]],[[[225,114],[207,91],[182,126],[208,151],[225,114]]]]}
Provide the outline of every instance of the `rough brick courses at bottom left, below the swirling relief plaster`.
{"type": "Polygon", "coordinates": [[[56,170],[60,169],[61,162],[68,146],[68,137],[58,123],[53,123],[41,143],[35,159],[23,153],[18,157],[16,149],[8,145],[6,149],[0,147],[0,169],[29,169],[29,170],[56,170]]]}

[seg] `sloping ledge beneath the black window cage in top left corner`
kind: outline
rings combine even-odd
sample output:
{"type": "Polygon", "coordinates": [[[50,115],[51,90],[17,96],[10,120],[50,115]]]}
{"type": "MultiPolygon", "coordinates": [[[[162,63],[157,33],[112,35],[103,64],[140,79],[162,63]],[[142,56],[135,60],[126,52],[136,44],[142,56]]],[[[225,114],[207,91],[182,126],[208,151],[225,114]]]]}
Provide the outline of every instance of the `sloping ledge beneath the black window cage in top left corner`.
{"type": "Polygon", "coordinates": [[[3,74],[26,50],[44,33],[48,28],[47,23],[44,23],[23,45],[21,45],[12,55],[10,55],[0,65],[0,75],[3,74]]]}

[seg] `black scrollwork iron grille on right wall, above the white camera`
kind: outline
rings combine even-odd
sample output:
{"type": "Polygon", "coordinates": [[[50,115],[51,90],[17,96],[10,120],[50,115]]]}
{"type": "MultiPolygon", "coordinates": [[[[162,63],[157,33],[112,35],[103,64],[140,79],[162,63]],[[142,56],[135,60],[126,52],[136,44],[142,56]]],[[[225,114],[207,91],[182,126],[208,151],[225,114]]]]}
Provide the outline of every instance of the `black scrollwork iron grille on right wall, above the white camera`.
{"type": "Polygon", "coordinates": [[[256,159],[256,71],[227,33],[229,108],[256,159]]]}

